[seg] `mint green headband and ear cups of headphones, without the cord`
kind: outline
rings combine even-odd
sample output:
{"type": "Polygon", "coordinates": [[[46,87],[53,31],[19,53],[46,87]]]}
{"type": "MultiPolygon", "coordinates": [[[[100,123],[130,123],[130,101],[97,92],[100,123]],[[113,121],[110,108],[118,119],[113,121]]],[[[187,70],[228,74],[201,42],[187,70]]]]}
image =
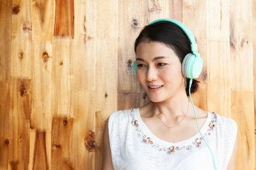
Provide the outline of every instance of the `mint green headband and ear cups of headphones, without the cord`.
{"type": "MultiPolygon", "coordinates": [[[[200,75],[202,68],[203,68],[203,60],[200,57],[200,53],[197,52],[197,45],[196,45],[196,41],[195,41],[195,37],[193,36],[193,33],[182,22],[179,22],[178,20],[167,19],[167,18],[154,20],[153,22],[151,22],[148,25],[151,25],[151,24],[154,24],[154,23],[160,22],[160,21],[169,21],[169,22],[172,22],[172,23],[178,25],[188,36],[188,38],[191,42],[192,53],[188,53],[184,57],[184,59],[182,61],[182,70],[181,71],[182,71],[182,74],[184,76],[186,76],[187,78],[198,78],[198,76],[200,75]]],[[[136,66],[137,66],[137,63],[135,60],[133,63],[133,71],[134,71],[135,75],[136,75],[136,66]]]]}

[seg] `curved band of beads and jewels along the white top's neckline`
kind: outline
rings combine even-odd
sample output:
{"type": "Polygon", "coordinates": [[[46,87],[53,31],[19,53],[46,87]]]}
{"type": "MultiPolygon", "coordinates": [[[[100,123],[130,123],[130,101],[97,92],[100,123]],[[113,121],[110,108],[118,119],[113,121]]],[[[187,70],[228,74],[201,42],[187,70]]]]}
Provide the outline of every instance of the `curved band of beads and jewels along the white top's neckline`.
{"type": "MultiPolygon", "coordinates": [[[[185,139],[184,141],[177,142],[177,143],[168,143],[167,141],[163,141],[162,139],[159,139],[156,136],[154,136],[154,134],[152,134],[152,132],[150,132],[150,130],[147,128],[147,126],[142,121],[140,115],[137,115],[137,117],[138,117],[137,119],[134,117],[134,111],[138,112],[139,108],[136,108],[136,109],[131,108],[131,110],[129,110],[129,116],[131,117],[131,125],[133,125],[134,129],[138,132],[138,138],[140,139],[141,142],[145,143],[145,145],[152,146],[153,148],[157,148],[159,150],[159,152],[167,152],[168,154],[171,154],[173,152],[179,152],[182,150],[189,151],[193,148],[200,148],[200,146],[202,146],[202,144],[204,143],[204,140],[200,136],[199,132],[197,134],[195,134],[195,136],[193,136],[189,139],[185,139]],[[144,127],[147,129],[149,135],[146,135],[142,131],[141,125],[144,125],[144,127]],[[156,143],[155,142],[156,140],[154,138],[157,139],[160,143],[162,142],[162,143],[168,144],[170,146],[163,147],[163,146],[161,146],[160,143],[156,143]],[[152,139],[154,139],[155,141],[153,141],[152,139]],[[186,145],[180,145],[180,143],[186,143],[186,145]]],[[[140,113],[137,113],[137,114],[140,114],[140,113]]],[[[201,132],[204,132],[204,135],[203,135],[204,139],[209,138],[211,136],[212,132],[214,131],[215,124],[216,124],[216,118],[217,118],[216,113],[212,112],[211,115],[210,115],[210,113],[208,113],[207,120],[205,121],[205,124],[200,129],[201,132]],[[211,118],[211,120],[210,120],[210,118],[211,118]]]]}

